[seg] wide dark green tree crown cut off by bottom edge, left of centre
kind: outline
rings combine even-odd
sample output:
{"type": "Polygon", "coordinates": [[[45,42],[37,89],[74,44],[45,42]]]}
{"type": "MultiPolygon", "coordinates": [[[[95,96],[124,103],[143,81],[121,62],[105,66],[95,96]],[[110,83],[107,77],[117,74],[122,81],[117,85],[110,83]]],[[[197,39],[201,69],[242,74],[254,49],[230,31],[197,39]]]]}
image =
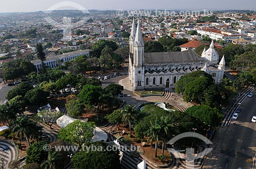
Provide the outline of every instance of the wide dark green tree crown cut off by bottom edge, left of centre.
{"type": "Polygon", "coordinates": [[[118,151],[104,151],[108,144],[104,142],[94,142],[92,145],[101,147],[98,151],[80,151],[71,158],[73,168],[95,169],[95,168],[121,168],[118,151]]]}

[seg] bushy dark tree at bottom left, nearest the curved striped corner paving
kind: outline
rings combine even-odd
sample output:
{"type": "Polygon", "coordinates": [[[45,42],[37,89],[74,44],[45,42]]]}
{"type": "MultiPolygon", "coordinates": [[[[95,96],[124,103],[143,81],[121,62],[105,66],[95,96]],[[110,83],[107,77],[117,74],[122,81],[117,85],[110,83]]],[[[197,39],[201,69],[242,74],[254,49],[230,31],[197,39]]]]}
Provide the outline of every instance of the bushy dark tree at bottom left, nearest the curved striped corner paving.
{"type": "Polygon", "coordinates": [[[26,163],[41,164],[44,160],[47,160],[48,151],[44,150],[46,144],[48,144],[48,141],[44,140],[30,146],[27,150],[26,163]]]}

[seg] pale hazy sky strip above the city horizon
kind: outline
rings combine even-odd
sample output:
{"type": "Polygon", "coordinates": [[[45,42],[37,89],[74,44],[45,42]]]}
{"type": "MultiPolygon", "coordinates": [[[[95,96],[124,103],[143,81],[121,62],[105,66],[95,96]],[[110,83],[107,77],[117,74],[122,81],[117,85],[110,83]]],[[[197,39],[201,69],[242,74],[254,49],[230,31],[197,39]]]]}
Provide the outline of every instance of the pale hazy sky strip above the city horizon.
{"type": "MultiPolygon", "coordinates": [[[[67,1],[61,0],[0,0],[0,12],[31,12],[45,11],[57,3],[67,1]]],[[[69,1],[81,5],[85,9],[250,9],[256,10],[255,0],[73,0],[69,1]]],[[[71,3],[72,4],[72,3],[71,3]]],[[[61,9],[74,9],[64,7],[61,9]]],[[[59,6],[58,6],[59,7],[59,6]]],[[[56,8],[56,7],[55,7],[56,8]]],[[[1,17],[1,16],[0,16],[1,17]]]]}

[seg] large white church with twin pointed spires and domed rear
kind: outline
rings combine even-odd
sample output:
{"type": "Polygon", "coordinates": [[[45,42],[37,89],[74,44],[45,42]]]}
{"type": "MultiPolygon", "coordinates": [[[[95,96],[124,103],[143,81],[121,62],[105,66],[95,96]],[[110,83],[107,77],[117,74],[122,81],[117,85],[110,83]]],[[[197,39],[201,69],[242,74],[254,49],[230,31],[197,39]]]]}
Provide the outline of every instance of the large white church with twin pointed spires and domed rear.
{"type": "Polygon", "coordinates": [[[225,58],[219,62],[219,54],[214,49],[214,41],[202,55],[194,51],[144,52],[141,24],[136,29],[133,19],[130,36],[129,82],[134,91],[175,87],[184,75],[197,70],[210,74],[219,83],[224,75],[225,58]]]}

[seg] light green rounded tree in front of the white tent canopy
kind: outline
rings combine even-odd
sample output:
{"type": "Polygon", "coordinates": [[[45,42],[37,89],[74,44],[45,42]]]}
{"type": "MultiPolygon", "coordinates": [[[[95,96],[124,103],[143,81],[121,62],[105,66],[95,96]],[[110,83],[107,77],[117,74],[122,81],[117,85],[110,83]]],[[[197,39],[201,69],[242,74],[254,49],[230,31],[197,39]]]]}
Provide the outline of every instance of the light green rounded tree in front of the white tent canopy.
{"type": "Polygon", "coordinates": [[[64,142],[81,146],[90,143],[93,138],[94,123],[76,120],[59,130],[58,138],[64,142]]]}

